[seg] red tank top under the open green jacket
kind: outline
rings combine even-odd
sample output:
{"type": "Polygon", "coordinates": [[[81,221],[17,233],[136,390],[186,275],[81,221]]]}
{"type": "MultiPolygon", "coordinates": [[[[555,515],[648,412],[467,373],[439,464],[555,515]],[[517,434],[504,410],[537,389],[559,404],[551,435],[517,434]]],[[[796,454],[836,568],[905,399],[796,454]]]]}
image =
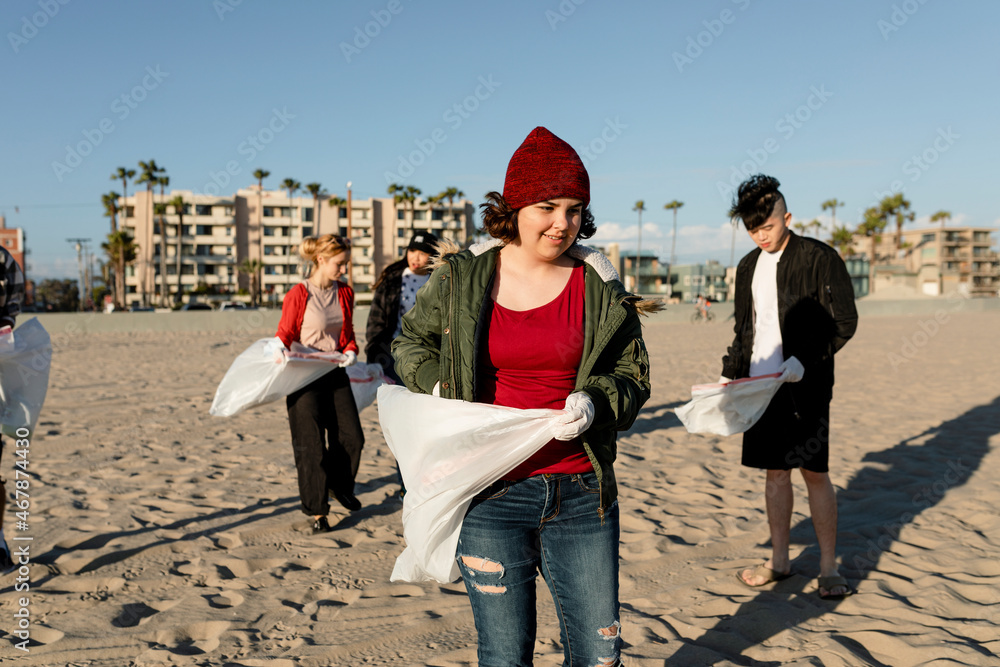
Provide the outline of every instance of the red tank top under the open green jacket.
{"type": "MultiPolygon", "coordinates": [[[[488,345],[479,359],[479,400],[512,408],[562,410],[583,357],[584,269],[577,263],[553,301],[531,310],[493,304],[488,345]]],[[[579,438],[551,440],[504,479],[590,472],[579,438]]]]}

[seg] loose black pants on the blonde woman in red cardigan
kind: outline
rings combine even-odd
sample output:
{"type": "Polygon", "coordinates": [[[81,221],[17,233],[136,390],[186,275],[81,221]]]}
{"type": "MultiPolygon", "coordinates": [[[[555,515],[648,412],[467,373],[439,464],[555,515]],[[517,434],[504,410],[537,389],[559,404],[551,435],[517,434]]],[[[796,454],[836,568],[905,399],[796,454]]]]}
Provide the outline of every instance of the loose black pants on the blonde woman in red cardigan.
{"type": "Polygon", "coordinates": [[[347,371],[337,368],[286,399],[302,511],[330,512],[327,489],[354,493],[365,444],[347,371]]]}

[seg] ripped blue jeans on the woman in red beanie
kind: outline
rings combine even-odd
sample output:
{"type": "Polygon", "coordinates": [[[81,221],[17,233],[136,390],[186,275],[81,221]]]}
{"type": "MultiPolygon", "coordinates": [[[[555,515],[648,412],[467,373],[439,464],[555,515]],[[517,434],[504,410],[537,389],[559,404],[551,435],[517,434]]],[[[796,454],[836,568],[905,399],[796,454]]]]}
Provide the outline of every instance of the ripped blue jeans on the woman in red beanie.
{"type": "Polygon", "coordinates": [[[532,664],[538,572],[559,615],[563,665],[620,664],[618,504],[603,523],[599,504],[592,472],[501,480],[473,500],[456,557],[480,667],[532,664]]]}

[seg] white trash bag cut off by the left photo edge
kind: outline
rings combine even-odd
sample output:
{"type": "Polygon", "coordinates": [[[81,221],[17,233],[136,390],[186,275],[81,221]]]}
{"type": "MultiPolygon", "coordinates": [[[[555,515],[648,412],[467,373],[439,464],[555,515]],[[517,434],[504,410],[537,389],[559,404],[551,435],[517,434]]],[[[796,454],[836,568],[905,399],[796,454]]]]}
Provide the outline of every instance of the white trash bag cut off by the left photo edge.
{"type": "Polygon", "coordinates": [[[35,430],[49,390],[52,341],[49,332],[31,318],[14,331],[0,330],[0,431],[11,437],[17,429],[35,430]]]}

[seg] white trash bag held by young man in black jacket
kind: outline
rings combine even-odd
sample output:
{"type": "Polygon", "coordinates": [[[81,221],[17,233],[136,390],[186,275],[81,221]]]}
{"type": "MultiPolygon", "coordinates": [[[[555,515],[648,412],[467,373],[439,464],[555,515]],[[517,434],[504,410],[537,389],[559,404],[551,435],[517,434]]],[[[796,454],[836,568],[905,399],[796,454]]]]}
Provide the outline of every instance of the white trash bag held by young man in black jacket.
{"type": "Polygon", "coordinates": [[[743,433],[763,416],[782,384],[798,382],[804,374],[802,363],[789,357],[777,373],[696,384],[691,387],[691,401],[677,408],[677,417],[689,433],[743,433]]]}

